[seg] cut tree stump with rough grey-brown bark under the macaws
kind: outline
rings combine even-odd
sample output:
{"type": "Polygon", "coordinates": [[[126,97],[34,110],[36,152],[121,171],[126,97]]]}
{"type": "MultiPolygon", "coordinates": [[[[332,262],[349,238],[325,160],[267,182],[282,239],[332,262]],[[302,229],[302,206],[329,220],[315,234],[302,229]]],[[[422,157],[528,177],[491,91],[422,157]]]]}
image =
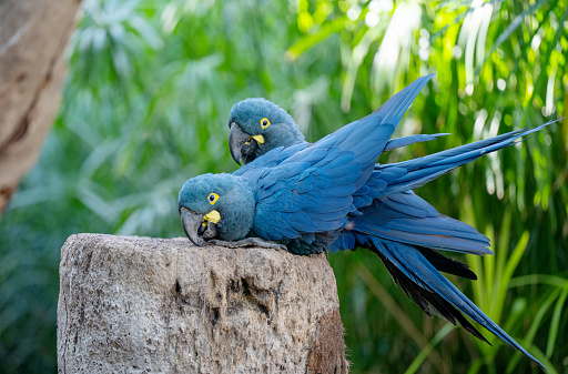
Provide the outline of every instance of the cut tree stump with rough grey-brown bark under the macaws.
{"type": "Polygon", "coordinates": [[[78,234],[61,250],[59,373],[347,373],[325,254],[78,234]]]}

